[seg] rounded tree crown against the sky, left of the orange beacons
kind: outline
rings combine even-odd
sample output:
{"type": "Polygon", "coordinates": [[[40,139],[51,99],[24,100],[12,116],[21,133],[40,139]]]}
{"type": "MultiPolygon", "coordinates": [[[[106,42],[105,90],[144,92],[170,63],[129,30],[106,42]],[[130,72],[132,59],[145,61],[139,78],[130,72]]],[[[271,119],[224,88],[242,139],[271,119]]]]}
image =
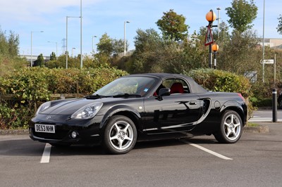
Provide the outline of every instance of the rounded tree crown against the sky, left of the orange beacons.
{"type": "Polygon", "coordinates": [[[164,39],[183,41],[188,36],[189,26],[185,24],[185,17],[183,15],[178,15],[173,9],[164,13],[161,19],[156,23],[161,30],[164,39]]]}

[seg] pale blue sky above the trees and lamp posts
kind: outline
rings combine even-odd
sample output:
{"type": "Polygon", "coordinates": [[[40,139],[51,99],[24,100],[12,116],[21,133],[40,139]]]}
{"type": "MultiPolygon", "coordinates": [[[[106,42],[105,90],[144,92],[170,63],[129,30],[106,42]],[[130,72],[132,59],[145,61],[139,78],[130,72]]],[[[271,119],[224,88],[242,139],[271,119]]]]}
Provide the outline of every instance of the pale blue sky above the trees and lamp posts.
{"type": "MultiPolygon", "coordinates": [[[[173,9],[178,15],[186,18],[188,32],[199,32],[200,27],[208,24],[205,16],[212,9],[216,16],[220,10],[220,22],[228,23],[226,8],[231,7],[231,0],[1,0],[0,29],[3,32],[14,32],[20,38],[20,55],[38,56],[42,53],[49,56],[52,51],[61,55],[66,46],[66,30],[68,28],[68,51],[77,56],[80,53],[80,2],[82,2],[82,53],[90,55],[92,43],[94,51],[102,34],[108,34],[112,39],[125,38],[129,49],[135,49],[134,38],[138,29],[157,27],[157,20],[164,12],[173,9]],[[68,18],[66,27],[66,16],[68,18]],[[40,32],[43,31],[43,32],[40,32]],[[97,36],[97,37],[94,37],[97,36]],[[32,39],[32,48],[31,48],[32,39]],[[94,41],[94,42],[93,42],[94,41]]],[[[282,15],[282,1],[255,0],[258,8],[257,18],[252,23],[253,30],[259,37],[282,38],[276,27],[278,17],[282,15]]],[[[214,25],[217,21],[214,22],[214,25]]],[[[232,29],[232,28],[231,28],[232,29]]]]}

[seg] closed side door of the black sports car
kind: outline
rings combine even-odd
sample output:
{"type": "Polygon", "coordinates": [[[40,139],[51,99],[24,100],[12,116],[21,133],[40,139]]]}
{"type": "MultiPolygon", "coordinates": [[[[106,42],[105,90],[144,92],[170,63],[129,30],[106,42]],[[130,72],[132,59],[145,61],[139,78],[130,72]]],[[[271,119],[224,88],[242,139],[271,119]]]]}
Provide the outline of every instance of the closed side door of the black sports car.
{"type": "Polygon", "coordinates": [[[188,131],[195,127],[200,118],[199,96],[189,93],[189,86],[183,80],[169,79],[164,87],[181,82],[183,93],[171,93],[169,96],[145,98],[145,131],[147,134],[164,134],[176,131],[188,131]]]}

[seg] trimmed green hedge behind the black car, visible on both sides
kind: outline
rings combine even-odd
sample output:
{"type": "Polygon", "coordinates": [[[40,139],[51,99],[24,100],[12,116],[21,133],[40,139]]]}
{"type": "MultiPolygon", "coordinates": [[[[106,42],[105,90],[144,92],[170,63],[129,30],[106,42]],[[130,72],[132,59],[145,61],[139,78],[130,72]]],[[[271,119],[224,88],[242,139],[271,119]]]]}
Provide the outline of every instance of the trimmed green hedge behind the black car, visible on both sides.
{"type": "MultiPolygon", "coordinates": [[[[23,68],[0,77],[0,128],[26,128],[36,108],[49,101],[51,93],[94,93],[117,77],[123,70],[110,67],[95,69],[23,68]],[[13,94],[11,101],[1,95],[13,94]]],[[[210,91],[240,92],[245,98],[252,95],[250,82],[243,76],[213,69],[198,69],[185,73],[210,91]]],[[[249,111],[254,108],[249,104],[249,111]]]]}

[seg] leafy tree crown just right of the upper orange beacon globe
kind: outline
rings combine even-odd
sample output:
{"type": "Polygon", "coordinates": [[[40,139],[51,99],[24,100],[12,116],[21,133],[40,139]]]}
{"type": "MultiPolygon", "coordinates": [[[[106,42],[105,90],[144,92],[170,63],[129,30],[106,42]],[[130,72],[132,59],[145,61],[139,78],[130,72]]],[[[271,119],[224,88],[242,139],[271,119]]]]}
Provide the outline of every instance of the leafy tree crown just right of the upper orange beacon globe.
{"type": "Polygon", "coordinates": [[[225,9],[231,27],[240,33],[252,28],[251,23],[257,18],[257,6],[254,1],[250,0],[248,3],[246,0],[233,0],[231,4],[231,7],[225,9]]]}

